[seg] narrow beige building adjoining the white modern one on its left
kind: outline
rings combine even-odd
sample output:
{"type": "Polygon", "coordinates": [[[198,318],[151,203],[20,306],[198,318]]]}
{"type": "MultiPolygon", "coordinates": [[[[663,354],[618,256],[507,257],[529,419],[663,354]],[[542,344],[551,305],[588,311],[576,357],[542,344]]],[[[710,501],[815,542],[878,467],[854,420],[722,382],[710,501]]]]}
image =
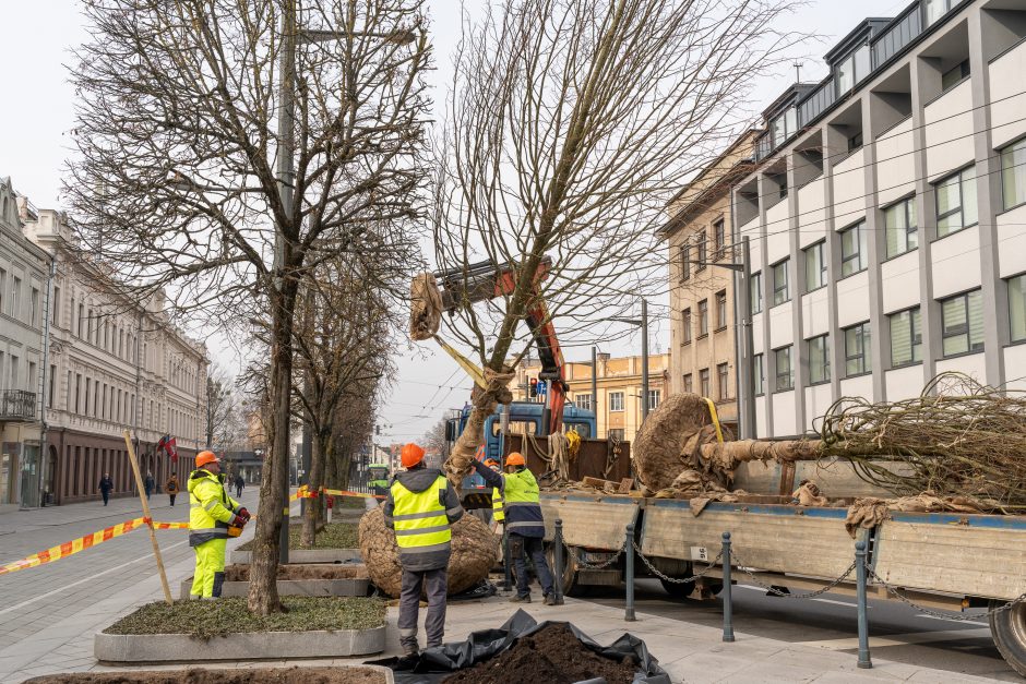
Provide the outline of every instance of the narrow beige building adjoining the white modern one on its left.
{"type": "Polygon", "coordinates": [[[719,418],[737,422],[730,188],[752,169],[756,131],[741,135],[668,205],[661,229],[670,265],[671,392],[716,401],[719,418]]]}

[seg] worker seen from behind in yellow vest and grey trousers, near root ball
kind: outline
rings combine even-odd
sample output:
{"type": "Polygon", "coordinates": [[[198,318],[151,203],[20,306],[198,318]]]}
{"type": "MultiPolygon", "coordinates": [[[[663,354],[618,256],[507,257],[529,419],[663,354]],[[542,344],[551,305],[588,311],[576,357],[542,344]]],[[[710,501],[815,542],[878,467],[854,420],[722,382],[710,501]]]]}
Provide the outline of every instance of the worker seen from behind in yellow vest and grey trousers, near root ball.
{"type": "Polygon", "coordinates": [[[423,449],[407,444],[402,451],[404,472],[396,473],[384,504],[385,525],[395,530],[403,587],[399,593],[399,645],[403,655],[417,656],[420,590],[428,597],[425,632],[428,648],[442,645],[449,581],[452,524],[463,517],[460,497],[445,476],[423,465],[423,449]]]}

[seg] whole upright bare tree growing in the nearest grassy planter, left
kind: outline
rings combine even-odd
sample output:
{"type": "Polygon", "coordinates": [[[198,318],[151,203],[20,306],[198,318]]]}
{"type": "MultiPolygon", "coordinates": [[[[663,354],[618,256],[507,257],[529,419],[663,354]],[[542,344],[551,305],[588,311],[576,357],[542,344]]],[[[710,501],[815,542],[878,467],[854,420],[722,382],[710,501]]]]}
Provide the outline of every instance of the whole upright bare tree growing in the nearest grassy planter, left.
{"type": "MultiPolygon", "coordinates": [[[[288,485],[293,311],[309,269],[386,254],[419,216],[422,0],[83,0],[79,155],[86,251],[191,316],[260,302],[270,328],[263,511],[288,485]],[[375,228],[372,238],[365,233],[375,228]]],[[[256,519],[249,607],[279,610],[282,518],[256,519]]]]}

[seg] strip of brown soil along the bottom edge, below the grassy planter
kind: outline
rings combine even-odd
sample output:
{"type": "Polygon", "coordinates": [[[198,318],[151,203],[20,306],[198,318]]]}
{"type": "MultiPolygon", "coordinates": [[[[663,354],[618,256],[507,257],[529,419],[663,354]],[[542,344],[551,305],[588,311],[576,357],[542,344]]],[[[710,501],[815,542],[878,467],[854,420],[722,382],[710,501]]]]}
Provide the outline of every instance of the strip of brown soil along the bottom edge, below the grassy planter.
{"type": "Polygon", "coordinates": [[[186,670],[184,672],[80,672],[50,674],[26,684],[385,684],[385,675],[370,668],[252,668],[246,670],[186,670]]]}

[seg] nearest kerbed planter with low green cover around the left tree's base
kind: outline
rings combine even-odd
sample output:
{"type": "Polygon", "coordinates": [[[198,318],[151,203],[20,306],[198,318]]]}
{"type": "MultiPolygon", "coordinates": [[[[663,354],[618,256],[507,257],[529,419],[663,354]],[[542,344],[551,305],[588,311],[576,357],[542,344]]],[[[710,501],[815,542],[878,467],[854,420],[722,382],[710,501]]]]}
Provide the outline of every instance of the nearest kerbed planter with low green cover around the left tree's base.
{"type": "Polygon", "coordinates": [[[250,613],[242,598],[150,603],[97,634],[94,655],[102,662],[134,663],[347,658],[384,650],[384,601],[282,602],[286,611],[271,615],[250,613]]]}

